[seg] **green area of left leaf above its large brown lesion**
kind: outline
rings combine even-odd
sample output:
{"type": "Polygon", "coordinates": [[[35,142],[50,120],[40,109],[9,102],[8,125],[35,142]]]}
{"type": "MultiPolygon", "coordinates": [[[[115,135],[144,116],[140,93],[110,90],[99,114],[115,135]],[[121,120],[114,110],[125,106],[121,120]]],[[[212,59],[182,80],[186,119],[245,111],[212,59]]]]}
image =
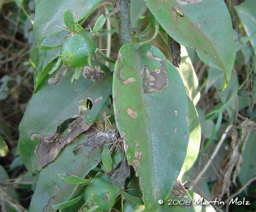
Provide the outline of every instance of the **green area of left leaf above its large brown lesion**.
{"type": "Polygon", "coordinates": [[[93,123],[108,100],[112,90],[112,74],[102,63],[92,62],[92,64],[100,66],[106,76],[97,82],[80,76],[79,81],[71,83],[70,78],[75,68],[69,68],[59,85],[53,86],[45,81],[32,96],[19,126],[19,152],[31,173],[41,169],[35,153],[39,139],[34,138],[32,141],[30,137],[33,133],[41,136],[53,135],[58,122],[77,117],[79,102],[84,100],[86,102],[88,98],[93,106],[85,111],[84,120],[85,123],[93,123]]]}

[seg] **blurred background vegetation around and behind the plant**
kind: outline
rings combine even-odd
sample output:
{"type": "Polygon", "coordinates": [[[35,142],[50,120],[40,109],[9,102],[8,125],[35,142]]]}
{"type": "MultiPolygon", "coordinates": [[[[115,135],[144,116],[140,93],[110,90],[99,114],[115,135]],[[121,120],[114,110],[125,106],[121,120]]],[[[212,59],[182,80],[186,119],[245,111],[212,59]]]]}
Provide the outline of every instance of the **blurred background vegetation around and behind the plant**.
{"type": "MultiPolygon", "coordinates": [[[[187,49],[201,93],[196,107],[202,141],[199,158],[185,187],[193,187],[194,192],[207,200],[238,197],[238,201],[245,198],[250,203],[217,205],[217,211],[255,211],[256,3],[255,0],[225,0],[225,3],[233,23],[236,60],[223,92],[219,91],[224,82],[223,72],[206,66],[193,49],[187,49]]],[[[97,9],[84,25],[93,25],[110,9],[106,6],[97,9]]],[[[37,48],[32,24],[34,11],[34,0],[0,0],[0,211],[28,210],[38,179],[38,173],[30,176],[17,150],[19,123],[34,91],[37,48]]],[[[144,1],[131,0],[132,27],[149,13],[144,1]]],[[[111,46],[106,54],[117,58],[115,15],[97,37],[97,46],[99,49],[111,46]]],[[[114,65],[110,69],[113,71],[114,65]]]]}

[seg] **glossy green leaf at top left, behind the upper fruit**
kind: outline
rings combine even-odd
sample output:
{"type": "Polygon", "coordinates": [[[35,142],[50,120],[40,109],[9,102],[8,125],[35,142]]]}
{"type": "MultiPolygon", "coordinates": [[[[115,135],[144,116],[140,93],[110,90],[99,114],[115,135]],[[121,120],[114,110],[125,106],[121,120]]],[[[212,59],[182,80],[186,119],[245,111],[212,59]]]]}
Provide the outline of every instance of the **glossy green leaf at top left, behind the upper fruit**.
{"type": "MultiPolygon", "coordinates": [[[[57,34],[65,27],[65,9],[74,13],[75,23],[87,17],[102,0],[42,0],[35,2],[34,33],[37,45],[42,38],[57,34]]],[[[57,43],[55,43],[57,44],[57,43]]],[[[48,44],[50,45],[50,44],[48,44]]]]}

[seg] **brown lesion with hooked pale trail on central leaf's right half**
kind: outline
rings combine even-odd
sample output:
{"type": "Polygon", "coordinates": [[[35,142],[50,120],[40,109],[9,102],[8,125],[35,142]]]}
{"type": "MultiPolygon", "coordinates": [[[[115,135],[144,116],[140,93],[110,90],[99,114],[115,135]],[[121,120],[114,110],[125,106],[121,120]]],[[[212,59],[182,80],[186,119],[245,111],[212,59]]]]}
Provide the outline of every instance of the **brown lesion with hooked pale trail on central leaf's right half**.
{"type": "Polygon", "coordinates": [[[147,86],[147,90],[144,90],[144,93],[162,92],[169,85],[165,60],[153,56],[152,52],[150,51],[147,52],[147,57],[157,60],[161,63],[161,66],[154,71],[150,71],[146,64],[143,65],[141,78],[143,83],[143,77],[146,75],[145,85],[147,86]]]}

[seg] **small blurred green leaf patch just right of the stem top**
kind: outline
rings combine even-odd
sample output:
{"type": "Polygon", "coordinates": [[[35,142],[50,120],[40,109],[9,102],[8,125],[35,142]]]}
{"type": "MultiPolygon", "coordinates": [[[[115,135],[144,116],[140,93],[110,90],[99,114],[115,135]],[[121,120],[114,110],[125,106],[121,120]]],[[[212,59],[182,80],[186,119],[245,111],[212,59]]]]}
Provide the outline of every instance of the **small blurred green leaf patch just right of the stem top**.
{"type": "Polygon", "coordinates": [[[146,11],[147,5],[144,1],[131,0],[130,2],[130,14],[131,14],[131,24],[135,27],[139,17],[146,11]]]}

